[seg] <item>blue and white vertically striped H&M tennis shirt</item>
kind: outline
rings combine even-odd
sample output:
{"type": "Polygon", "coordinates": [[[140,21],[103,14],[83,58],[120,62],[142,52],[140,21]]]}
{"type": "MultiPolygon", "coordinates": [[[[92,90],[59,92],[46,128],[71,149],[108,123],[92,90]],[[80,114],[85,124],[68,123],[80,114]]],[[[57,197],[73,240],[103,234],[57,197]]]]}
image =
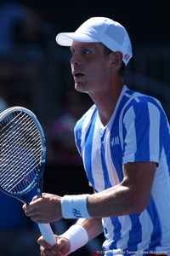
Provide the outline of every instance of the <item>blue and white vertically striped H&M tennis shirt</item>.
{"type": "Polygon", "coordinates": [[[102,219],[105,255],[170,254],[170,128],[161,103],[124,85],[109,123],[102,125],[94,105],[75,137],[96,193],[122,182],[122,164],[158,164],[144,212],[102,219]]]}

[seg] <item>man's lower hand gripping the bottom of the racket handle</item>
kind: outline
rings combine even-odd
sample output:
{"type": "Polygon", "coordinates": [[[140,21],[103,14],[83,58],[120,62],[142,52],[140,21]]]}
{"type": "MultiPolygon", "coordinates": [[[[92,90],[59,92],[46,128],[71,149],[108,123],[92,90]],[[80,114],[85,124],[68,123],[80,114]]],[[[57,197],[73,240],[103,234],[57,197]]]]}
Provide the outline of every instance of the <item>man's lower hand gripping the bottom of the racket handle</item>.
{"type": "Polygon", "coordinates": [[[70,242],[61,236],[56,236],[56,243],[54,246],[50,246],[46,241],[43,240],[41,236],[37,242],[40,245],[41,256],[65,256],[68,253],[70,248],[70,242]]]}

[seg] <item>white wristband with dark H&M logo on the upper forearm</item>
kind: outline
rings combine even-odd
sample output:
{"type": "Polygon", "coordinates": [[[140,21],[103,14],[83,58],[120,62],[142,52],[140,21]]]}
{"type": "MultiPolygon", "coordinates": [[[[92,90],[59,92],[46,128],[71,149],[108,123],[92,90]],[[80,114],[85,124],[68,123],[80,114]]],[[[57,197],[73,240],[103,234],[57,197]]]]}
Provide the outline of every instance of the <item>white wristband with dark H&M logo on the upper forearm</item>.
{"type": "Polygon", "coordinates": [[[87,209],[88,195],[64,195],[61,201],[63,218],[91,218],[87,209]]]}

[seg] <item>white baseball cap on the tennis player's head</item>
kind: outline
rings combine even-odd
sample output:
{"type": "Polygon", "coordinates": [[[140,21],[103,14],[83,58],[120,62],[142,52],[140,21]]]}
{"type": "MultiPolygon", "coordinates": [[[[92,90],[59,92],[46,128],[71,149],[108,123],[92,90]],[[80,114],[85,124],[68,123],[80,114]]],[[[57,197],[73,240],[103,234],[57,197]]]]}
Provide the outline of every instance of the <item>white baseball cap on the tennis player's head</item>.
{"type": "Polygon", "coordinates": [[[126,29],[118,22],[105,17],[93,17],[82,23],[76,32],[59,33],[56,42],[71,46],[72,41],[82,43],[100,42],[113,52],[121,51],[122,61],[127,65],[132,58],[132,45],[126,29]]]}

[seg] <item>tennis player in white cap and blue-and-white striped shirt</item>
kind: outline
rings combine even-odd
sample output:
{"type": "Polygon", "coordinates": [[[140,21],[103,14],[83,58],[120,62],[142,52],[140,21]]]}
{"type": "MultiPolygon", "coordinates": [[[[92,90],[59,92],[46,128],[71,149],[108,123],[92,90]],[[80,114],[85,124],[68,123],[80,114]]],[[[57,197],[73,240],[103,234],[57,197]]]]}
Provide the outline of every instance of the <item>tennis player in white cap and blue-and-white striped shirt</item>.
{"type": "Polygon", "coordinates": [[[37,223],[78,218],[54,247],[39,238],[42,255],[68,255],[103,230],[105,255],[170,255],[170,130],[160,102],[123,83],[125,28],[95,17],[56,41],[71,46],[75,88],[94,101],[75,127],[94,195],[43,194],[24,206],[37,223]]]}

